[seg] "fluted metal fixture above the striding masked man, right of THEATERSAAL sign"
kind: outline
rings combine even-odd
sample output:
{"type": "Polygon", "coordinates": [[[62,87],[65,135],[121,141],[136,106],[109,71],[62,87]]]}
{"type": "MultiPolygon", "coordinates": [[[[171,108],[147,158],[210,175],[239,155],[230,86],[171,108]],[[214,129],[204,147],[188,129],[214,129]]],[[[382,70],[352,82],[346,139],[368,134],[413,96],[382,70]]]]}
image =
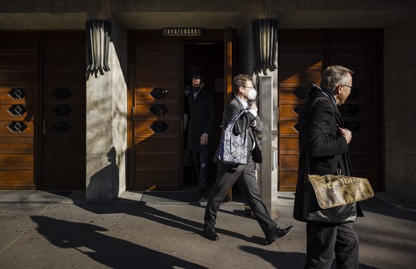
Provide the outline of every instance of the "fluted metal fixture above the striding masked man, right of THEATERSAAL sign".
{"type": "Polygon", "coordinates": [[[254,70],[277,69],[277,19],[253,21],[254,70]]]}

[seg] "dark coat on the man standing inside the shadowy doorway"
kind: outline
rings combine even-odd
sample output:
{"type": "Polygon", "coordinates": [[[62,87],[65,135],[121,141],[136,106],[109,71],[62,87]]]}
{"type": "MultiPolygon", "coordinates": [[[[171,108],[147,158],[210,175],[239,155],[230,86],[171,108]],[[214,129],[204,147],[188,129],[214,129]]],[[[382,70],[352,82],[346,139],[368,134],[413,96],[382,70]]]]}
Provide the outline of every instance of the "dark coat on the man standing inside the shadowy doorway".
{"type": "Polygon", "coordinates": [[[203,88],[194,98],[193,93],[188,96],[189,123],[187,147],[194,151],[210,151],[216,124],[216,106],[214,96],[203,88]],[[209,136],[204,146],[199,142],[203,133],[209,136]]]}

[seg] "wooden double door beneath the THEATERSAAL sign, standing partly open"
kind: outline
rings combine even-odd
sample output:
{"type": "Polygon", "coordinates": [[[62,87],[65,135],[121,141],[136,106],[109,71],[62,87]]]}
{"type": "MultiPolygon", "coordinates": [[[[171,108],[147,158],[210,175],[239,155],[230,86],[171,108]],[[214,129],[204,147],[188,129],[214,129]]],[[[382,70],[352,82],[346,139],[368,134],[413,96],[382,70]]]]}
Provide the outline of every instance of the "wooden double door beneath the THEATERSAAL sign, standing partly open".
{"type": "Polygon", "coordinates": [[[204,75],[205,88],[217,99],[219,127],[223,103],[231,96],[231,53],[230,29],[204,30],[202,36],[129,33],[129,189],[184,186],[184,87],[193,73],[204,75]],[[194,45],[202,51],[192,49],[190,55],[186,50],[194,45]],[[221,46],[218,53],[209,54],[212,46],[221,46]]]}

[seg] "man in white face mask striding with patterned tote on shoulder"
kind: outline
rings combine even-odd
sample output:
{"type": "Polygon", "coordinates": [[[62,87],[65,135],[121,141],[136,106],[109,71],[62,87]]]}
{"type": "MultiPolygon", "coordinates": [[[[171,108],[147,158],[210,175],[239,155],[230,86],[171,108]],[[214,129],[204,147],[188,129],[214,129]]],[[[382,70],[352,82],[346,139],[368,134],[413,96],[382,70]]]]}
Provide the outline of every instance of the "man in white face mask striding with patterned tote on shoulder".
{"type": "Polygon", "coordinates": [[[235,98],[224,109],[222,130],[224,132],[232,118],[241,113],[241,116],[234,123],[232,135],[240,136],[247,131],[247,148],[234,148],[233,151],[247,152],[247,159],[245,164],[232,165],[222,163],[218,154],[215,154],[214,161],[218,163],[217,181],[209,195],[207,208],[205,208],[204,233],[209,240],[219,239],[214,230],[219,205],[227,195],[229,188],[237,181],[239,190],[247,199],[254,218],[256,218],[264,232],[267,243],[271,244],[290,233],[293,226],[290,225],[284,229],[277,228],[277,224],[270,218],[267,208],[262,202],[259,186],[257,185],[254,162],[261,162],[261,152],[255,133],[262,131],[263,123],[257,116],[258,109],[255,102],[250,102],[254,101],[257,96],[252,77],[244,74],[236,76],[233,81],[232,93],[234,93],[235,98]]]}

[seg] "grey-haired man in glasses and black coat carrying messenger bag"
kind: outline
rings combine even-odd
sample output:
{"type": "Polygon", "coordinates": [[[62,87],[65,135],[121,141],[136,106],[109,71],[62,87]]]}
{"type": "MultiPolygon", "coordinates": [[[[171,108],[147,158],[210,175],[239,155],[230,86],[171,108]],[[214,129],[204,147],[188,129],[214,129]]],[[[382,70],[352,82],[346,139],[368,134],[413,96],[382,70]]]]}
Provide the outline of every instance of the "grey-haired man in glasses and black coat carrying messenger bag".
{"type": "MultiPolygon", "coordinates": [[[[299,113],[299,175],[294,218],[303,217],[304,174],[352,176],[348,144],[351,131],[344,128],[337,106],[352,89],[352,71],[329,66],[320,86],[308,87],[309,98],[299,113]],[[308,171],[309,168],[309,171],[308,171]]],[[[337,269],[358,268],[358,238],[352,223],[332,224],[307,221],[307,260],[304,268],[330,268],[335,252],[337,269]]]]}

